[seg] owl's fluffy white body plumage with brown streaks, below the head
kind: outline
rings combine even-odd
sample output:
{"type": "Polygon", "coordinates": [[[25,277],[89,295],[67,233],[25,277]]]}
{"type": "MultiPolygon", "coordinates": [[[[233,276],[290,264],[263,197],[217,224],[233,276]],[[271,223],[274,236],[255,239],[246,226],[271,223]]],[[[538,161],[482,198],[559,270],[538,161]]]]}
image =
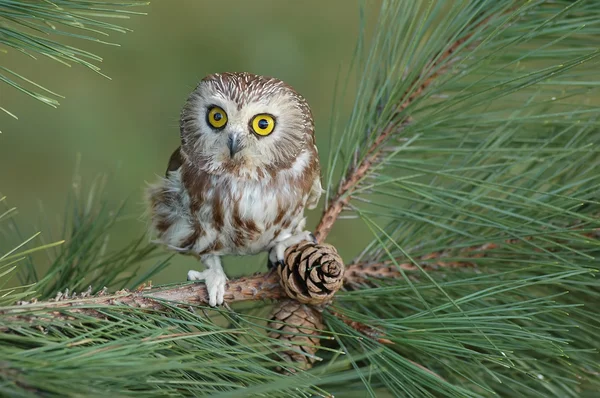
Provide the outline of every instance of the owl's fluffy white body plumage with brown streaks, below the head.
{"type": "Polygon", "coordinates": [[[156,219],[168,227],[159,239],[172,248],[199,254],[255,254],[302,231],[308,193],[294,179],[307,165],[301,155],[293,167],[261,179],[211,174],[203,190],[190,196],[181,171],[164,180],[169,196],[156,206],[156,219]],[[201,200],[198,199],[201,197],[201,200]]]}

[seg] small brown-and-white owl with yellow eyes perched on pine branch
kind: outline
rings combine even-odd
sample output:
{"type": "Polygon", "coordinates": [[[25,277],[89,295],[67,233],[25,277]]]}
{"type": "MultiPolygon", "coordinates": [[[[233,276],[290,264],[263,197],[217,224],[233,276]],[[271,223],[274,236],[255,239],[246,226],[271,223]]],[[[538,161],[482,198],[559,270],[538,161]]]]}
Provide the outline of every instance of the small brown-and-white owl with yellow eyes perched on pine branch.
{"type": "Polygon", "coordinates": [[[314,122],[306,100],[272,77],[212,74],[188,97],[181,145],[147,190],[151,229],[170,250],[198,257],[209,305],[223,304],[221,256],[268,252],[303,240],[304,209],[322,193],[314,122]]]}

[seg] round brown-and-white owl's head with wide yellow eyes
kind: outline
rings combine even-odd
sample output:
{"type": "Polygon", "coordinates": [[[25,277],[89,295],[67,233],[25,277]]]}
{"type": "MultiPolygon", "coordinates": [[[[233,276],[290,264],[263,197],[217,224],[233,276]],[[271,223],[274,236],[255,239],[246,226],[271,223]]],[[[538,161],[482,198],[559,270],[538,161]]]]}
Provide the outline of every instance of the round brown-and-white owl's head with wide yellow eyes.
{"type": "Polygon", "coordinates": [[[202,79],[180,128],[184,156],[215,173],[285,169],[314,143],[306,100],[281,80],[250,73],[202,79]]]}

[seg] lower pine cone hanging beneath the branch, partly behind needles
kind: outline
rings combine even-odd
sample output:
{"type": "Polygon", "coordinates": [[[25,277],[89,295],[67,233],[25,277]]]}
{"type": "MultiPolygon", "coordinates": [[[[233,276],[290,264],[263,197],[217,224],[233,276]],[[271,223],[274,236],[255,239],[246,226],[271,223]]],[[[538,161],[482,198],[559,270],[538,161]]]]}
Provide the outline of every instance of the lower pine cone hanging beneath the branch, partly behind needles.
{"type": "MultiPolygon", "coordinates": [[[[282,300],[273,309],[269,328],[275,329],[269,332],[270,337],[279,339],[290,347],[289,350],[280,352],[284,361],[294,363],[304,370],[312,367],[317,360],[314,354],[320,346],[320,339],[316,336],[323,329],[323,316],[319,311],[296,300],[282,300]]],[[[277,371],[294,372],[293,369],[282,367],[278,367],[277,371]]]]}

